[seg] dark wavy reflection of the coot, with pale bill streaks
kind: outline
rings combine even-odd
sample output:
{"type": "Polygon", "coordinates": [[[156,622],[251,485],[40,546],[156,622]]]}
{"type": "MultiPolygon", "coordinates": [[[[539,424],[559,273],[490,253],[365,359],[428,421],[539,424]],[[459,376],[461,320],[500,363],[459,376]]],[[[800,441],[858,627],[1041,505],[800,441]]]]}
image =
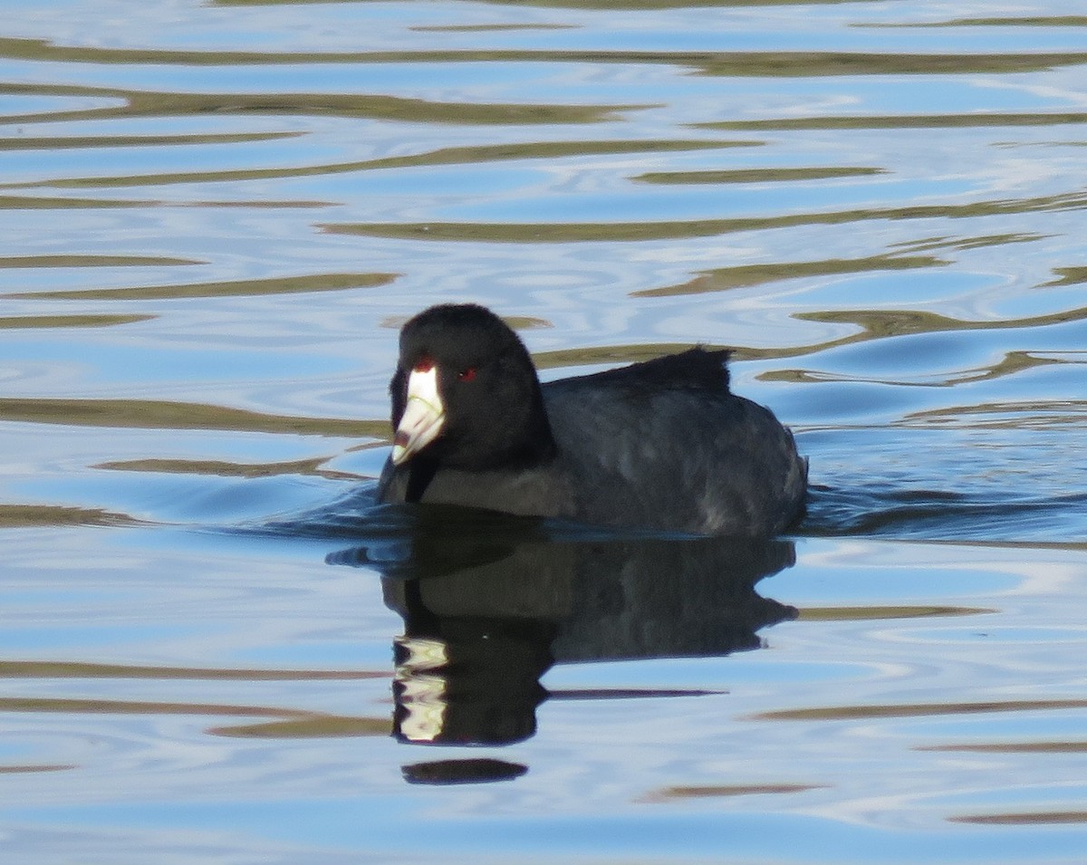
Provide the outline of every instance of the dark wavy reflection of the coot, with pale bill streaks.
{"type": "Polygon", "coordinates": [[[754,590],[794,564],[787,540],[600,534],[440,506],[385,516],[384,536],[329,561],[377,568],[403,617],[392,691],[404,742],[522,741],[547,699],[664,693],[549,693],[553,664],[725,655],[797,615],[754,590]],[[408,530],[393,530],[401,519],[408,530]]]}

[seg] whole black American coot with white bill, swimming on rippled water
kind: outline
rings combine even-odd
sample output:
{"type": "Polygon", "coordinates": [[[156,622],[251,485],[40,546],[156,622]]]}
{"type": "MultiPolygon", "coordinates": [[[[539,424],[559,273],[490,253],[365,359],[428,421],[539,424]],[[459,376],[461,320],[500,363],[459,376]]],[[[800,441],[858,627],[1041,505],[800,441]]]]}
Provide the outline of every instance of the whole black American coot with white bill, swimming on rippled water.
{"type": "Polygon", "coordinates": [[[803,511],[807,461],[691,349],[540,385],[489,310],[432,306],[400,333],[382,502],[433,502],[701,535],[769,537],[803,511]]]}

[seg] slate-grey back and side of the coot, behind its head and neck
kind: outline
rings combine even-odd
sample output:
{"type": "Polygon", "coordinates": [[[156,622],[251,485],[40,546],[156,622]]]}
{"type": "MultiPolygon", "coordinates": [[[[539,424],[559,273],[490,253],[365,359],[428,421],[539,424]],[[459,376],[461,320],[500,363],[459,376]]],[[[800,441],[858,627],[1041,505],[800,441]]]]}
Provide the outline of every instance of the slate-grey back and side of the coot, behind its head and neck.
{"type": "Polygon", "coordinates": [[[692,349],[544,386],[578,519],[761,536],[796,522],[807,465],[769,410],[728,390],[726,358],[692,349]]]}

